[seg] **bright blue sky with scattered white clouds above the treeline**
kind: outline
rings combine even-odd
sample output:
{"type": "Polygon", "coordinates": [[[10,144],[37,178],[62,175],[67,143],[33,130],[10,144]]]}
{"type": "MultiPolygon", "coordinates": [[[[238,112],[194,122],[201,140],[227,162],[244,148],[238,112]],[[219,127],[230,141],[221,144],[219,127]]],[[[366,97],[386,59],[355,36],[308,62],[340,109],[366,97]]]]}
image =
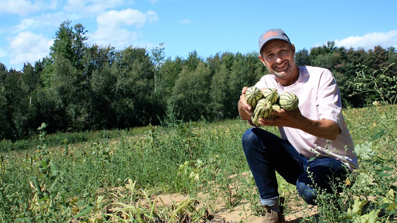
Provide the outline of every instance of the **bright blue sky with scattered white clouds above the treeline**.
{"type": "Polygon", "coordinates": [[[49,53],[60,23],[81,23],[91,46],[150,50],[163,42],[167,57],[196,50],[258,52],[267,29],[283,29],[297,50],[337,46],[397,48],[397,0],[0,0],[0,62],[17,70],[49,53]]]}

